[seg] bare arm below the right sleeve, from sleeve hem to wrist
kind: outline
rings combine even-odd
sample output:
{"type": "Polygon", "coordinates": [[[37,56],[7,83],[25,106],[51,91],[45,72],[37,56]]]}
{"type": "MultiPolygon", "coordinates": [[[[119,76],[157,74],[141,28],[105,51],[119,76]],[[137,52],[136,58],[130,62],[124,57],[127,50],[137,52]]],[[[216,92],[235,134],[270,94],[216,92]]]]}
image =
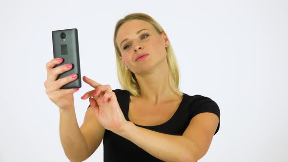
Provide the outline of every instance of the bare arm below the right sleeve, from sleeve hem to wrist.
{"type": "Polygon", "coordinates": [[[213,113],[198,114],[182,136],[158,133],[129,122],[119,135],[163,161],[196,162],[208,151],[218,122],[213,113]]]}

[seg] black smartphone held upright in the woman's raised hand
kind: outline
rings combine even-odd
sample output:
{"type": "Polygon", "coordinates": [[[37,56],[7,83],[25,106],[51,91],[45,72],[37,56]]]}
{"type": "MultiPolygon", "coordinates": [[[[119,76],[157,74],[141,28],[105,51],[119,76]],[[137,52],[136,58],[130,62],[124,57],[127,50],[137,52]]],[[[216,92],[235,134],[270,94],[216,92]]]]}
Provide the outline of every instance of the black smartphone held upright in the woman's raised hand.
{"type": "Polygon", "coordinates": [[[62,58],[63,62],[55,67],[63,64],[71,63],[72,69],[60,74],[57,78],[61,79],[72,74],[77,74],[78,78],[75,81],[63,85],[60,89],[80,88],[81,73],[80,73],[80,58],[78,45],[77,29],[64,29],[52,31],[53,55],[55,58],[62,58]]]}

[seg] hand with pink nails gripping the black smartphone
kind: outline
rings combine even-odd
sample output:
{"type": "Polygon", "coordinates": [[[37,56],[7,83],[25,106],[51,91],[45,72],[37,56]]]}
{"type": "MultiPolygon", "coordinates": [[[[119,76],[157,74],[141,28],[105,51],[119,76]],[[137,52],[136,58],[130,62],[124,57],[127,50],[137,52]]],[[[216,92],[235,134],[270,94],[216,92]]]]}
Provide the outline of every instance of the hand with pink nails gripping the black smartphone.
{"type": "Polygon", "coordinates": [[[79,88],[60,88],[71,81],[75,81],[78,78],[78,75],[73,74],[57,80],[60,74],[72,69],[71,63],[55,67],[57,64],[61,64],[62,61],[62,58],[57,58],[46,63],[47,80],[44,82],[44,86],[46,88],[46,94],[49,99],[54,102],[60,109],[66,110],[74,107],[73,93],[77,92],[79,88]]]}

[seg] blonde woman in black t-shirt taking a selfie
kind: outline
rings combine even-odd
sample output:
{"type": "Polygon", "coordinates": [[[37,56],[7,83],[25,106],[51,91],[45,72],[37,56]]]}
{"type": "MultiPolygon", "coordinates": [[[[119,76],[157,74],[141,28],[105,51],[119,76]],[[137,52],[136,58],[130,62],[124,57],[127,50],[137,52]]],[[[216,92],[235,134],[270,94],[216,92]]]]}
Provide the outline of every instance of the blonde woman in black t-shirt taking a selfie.
{"type": "Polygon", "coordinates": [[[82,99],[90,105],[79,128],[73,93],[61,89],[77,74],[57,80],[72,68],[53,59],[46,64],[46,93],[60,110],[60,137],[70,161],[90,157],[103,140],[104,162],[196,162],[219,129],[216,102],[178,89],[179,72],[162,27],[145,14],[130,14],[115,27],[114,46],[121,89],[83,77],[93,87],[82,99]]]}

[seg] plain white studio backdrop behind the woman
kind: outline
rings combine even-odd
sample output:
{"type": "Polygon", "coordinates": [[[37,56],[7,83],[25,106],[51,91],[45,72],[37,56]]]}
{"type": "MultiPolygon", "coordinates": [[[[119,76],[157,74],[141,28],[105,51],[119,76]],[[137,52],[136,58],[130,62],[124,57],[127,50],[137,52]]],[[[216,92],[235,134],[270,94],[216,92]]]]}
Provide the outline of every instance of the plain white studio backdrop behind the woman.
{"type": "MultiPolygon", "coordinates": [[[[68,162],[59,110],[45,94],[52,30],[78,28],[82,75],[113,89],[117,20],[143,12],[164,28],[180,89],[216,101],[221,125],[199,162],[288,161],[287,0],[1,0],[0,162],[68,162]]],[[[91,90],[75,93],[81,126],[91,90]]],[[[102,162],[103,145],[86,160],[102,162]]]]}

